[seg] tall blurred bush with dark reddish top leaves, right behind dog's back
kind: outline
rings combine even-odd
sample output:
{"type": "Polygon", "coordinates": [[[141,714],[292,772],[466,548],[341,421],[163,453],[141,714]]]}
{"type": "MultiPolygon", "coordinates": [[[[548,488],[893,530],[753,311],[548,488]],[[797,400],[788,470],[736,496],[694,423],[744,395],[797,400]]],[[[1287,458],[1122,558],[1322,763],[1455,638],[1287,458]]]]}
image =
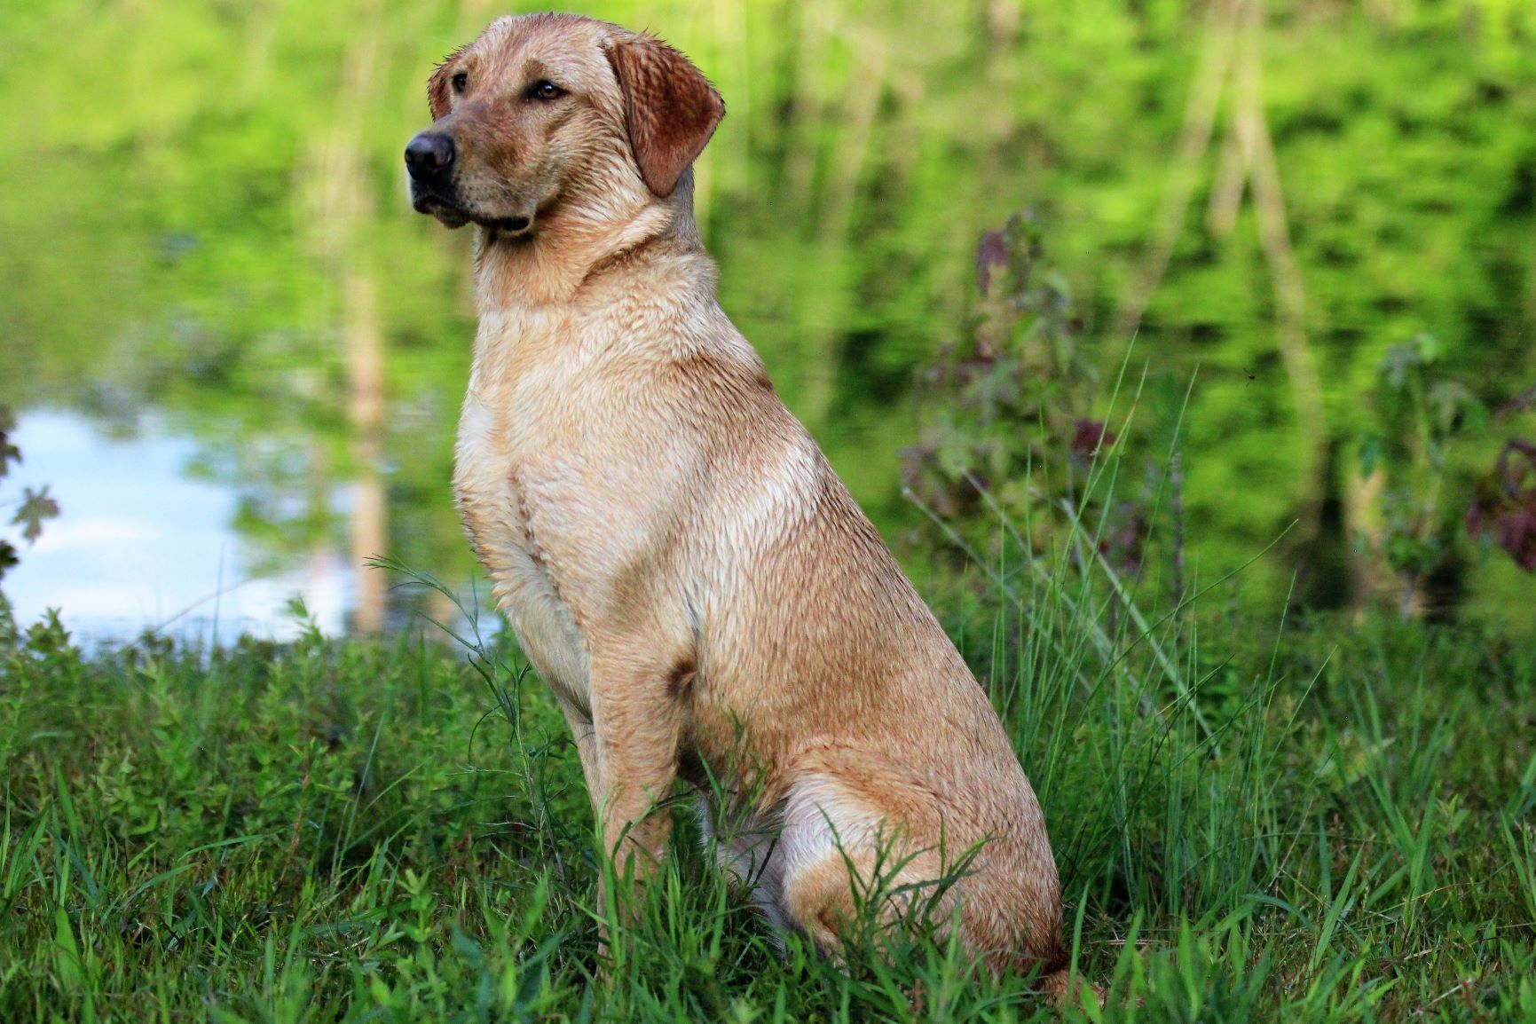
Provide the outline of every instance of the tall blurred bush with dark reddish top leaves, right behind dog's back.
{"type": "Polygon", "coordinates": [[[1095,457],[1118,438],[1092,416],[1098,372],[1034,216],[986,232],[975,273],[977,309],[923,373],[925,422],[902,453],[903,490],[932,520],[922,547],[997,554],[1015,537],[1037,554],[1086,517],[1104,520],[1100,553],[1137,568],[1146,514],[1089,487],[1095,457]]]}

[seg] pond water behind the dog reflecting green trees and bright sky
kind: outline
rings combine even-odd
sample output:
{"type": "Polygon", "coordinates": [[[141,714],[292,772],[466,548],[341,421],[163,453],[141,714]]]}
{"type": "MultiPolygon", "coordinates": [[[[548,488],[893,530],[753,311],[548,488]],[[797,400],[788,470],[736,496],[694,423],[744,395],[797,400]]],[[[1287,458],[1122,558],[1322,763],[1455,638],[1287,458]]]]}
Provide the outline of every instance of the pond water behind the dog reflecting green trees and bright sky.
{"type": "MultiPolygon", "coordinates": [[[[1536,382],[1536,15],[1465,6],[1298,0],[1247,28],[1169,0],[590,12],[662,32],[725,95],[697,167],[722,302],[905,557],[914,381],[966,335],[982,232],[1029,209],[1100,405],[1134,338],[1141,427],[1183,410],[1190,554],[1215,576],[1303,493],[1355,508],[1392,345],[1433,333],[1490,407],[1536,382]]],[[[433,61],[492,14],[0,14],[0,404],[26,457],[0,502],[48,484],[63,508],[3,582],[23,619],[58,606],[120,639],[452,611],[362,570],[373,554],[482,593],[449,488],[468,239],[412,213],[399,152],[433,61]]],[[[1458,450],[1458,479],[1493,448],[1458,450]]],[[[1364,505],[1342,522],[1381,530],[1364,505]]],[[[1233,593],[1278,606],[1307,550],[1233,593]]],[[[1467,608],[1528,597],[1498,559],[1470,565],[1467,608]]]]}

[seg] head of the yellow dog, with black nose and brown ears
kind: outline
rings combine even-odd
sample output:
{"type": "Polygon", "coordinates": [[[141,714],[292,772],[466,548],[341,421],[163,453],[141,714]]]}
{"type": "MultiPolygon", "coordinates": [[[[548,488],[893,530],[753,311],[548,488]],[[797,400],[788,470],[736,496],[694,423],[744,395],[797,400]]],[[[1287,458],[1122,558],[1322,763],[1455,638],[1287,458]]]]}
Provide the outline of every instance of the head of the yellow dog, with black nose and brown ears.
{"type": "Polygon", "coordinates": [[[427,84],[432,127],[406,147],[410,201],[449,227],[524,236],[562,203],[667,198],[725,114],[687,57],[605,21],[492,21],[427,84]]]}

